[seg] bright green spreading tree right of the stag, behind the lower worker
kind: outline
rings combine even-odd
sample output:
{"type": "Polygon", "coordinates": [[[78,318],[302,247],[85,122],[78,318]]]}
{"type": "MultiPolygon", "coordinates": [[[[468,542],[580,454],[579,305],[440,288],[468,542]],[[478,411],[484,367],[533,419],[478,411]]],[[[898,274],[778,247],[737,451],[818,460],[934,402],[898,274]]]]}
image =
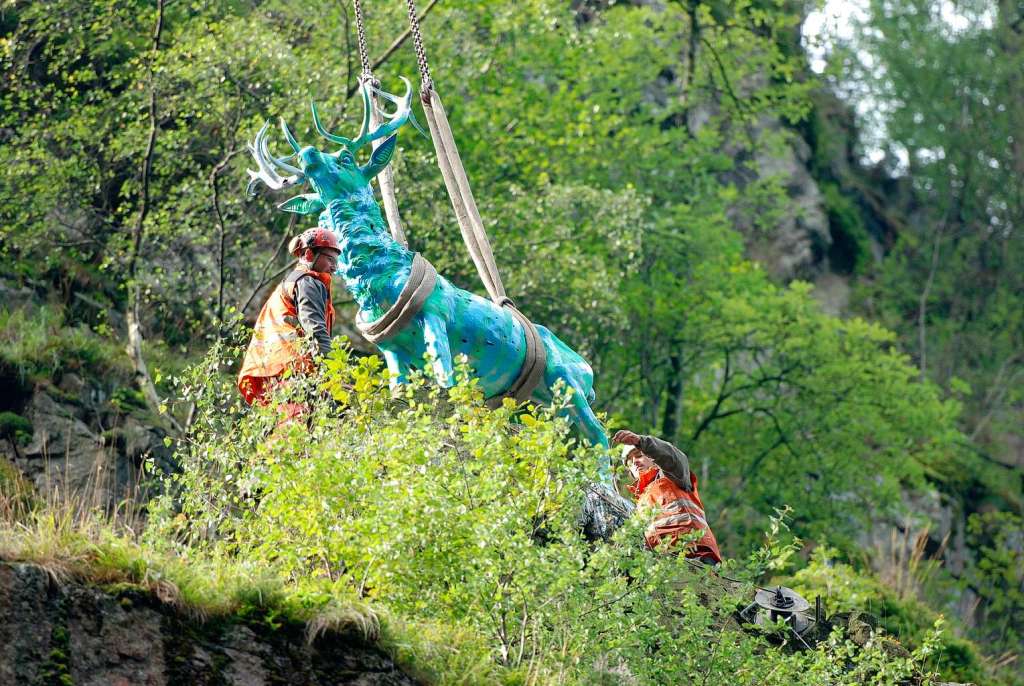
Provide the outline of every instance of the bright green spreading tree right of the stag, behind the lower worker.
{"type": "Polygon", "coordinates": [[[676,440],[708,475],[727,542],[786,503],[801,504],[801,537],[852,533],[901,484],[955,472],[958,408],[916,382],[889,332],[823,314],[806,285],[776,288],[743,262],[731,272],[694,294],[685,330],[642,339],[649,354],[674,336],[687,355],[676,440]]]}

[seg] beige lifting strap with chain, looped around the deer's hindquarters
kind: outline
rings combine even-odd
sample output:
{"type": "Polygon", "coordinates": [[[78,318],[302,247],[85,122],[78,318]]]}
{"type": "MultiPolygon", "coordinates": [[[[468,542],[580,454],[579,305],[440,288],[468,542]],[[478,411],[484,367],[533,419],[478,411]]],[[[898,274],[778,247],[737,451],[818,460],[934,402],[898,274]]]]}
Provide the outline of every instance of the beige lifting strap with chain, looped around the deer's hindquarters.
{"type": "Polygon", "coordinates": [[[427,63],[427,53],[423,47],[423,36],[420,33],[416,2],[415,0],[406,0],[406,3],[409,6],[410,29],[413,33],[413,44],[420,68],[420,97],[423,102],[423,112],[430,127],[430,137],[434,141],[437,165],[444,178],[444,186],[452,200],[452,208],[459,220],[459,229],[490,300],[499,307],[509,308],[525,334],[526,352],[522,367],[519,369],[519,375],[503,395],[488,398],[487,402],[492,406],[500,405],[503,397],[511,397],[517,402],[522,402],[529,399],[530,394],[544,378],[547,352],[537,332],[537,327],[516,308],[512,299],[505,294],[505,286],[498,272],[490,242],[487,240],[487,232],[483,228],[483,221],[476,208],[476,201],[469,186],[469,178],[466,176],[466,169],[459,156],[452,127],[449,125],[444,105],[441,104],[440,96],[434,89],[433,81],[430,78],[430,66],[427,63]]]}

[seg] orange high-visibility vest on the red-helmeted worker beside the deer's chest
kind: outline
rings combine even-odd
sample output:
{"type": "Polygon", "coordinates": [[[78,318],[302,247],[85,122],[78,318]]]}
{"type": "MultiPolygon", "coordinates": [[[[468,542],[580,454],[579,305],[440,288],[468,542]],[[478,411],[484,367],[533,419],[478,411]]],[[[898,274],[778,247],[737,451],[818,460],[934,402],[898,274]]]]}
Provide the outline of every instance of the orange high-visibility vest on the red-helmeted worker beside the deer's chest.
{"type": "Polygon", "coordinates": [[[331,304],[331,274],[297,266],[288,274],[260,310],[253,329],[252,340],[239,370],[239,390],[246,402],[252,404],[267,390],[267,382],[280,377],[289,367],[302,369],[309,362],[297,343],[301,336],[298,308],[295,304],[295,287],[300,278],[310,276],[327,286],[327,329],[334,327],[334,305],[331,304]]]}

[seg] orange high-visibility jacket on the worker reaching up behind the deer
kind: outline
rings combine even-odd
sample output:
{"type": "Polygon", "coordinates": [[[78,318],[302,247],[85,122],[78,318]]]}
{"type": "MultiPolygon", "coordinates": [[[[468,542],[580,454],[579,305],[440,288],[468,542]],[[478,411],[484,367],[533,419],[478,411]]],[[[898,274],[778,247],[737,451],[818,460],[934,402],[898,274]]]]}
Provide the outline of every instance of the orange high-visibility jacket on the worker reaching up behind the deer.
{"type": "Polygon", "coordinates": [[[693,530],[702,530],[700,538],[686,551],[686,556],[711,557],[716,562],[721,562],[722,553],[708,525],[703,503],[697,492],[697,477],[693,472],[690,472],[690,485],[692,488],[687,492],[664,475],[660,469],[652,467],[641,472],[637,482],[630,486],[630,490],[637,497],[637,505],[652,508],[657,513],[644,532],[647,546],[654,548],[659,543],[674,546],[679,537],[693,530]]]}

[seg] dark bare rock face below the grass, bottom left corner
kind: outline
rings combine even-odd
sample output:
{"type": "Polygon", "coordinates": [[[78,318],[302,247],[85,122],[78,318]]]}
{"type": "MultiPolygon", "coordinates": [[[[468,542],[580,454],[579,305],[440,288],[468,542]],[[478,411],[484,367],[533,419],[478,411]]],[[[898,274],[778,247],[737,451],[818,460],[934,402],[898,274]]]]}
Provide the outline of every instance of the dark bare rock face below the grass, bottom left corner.
{"type": "Polygon", "coordinates": [[[55,584],[40,567],[0,563],[0,684],[412,686],[389,656],[304,628],[190,620],[139,590],[55,584]]]}

